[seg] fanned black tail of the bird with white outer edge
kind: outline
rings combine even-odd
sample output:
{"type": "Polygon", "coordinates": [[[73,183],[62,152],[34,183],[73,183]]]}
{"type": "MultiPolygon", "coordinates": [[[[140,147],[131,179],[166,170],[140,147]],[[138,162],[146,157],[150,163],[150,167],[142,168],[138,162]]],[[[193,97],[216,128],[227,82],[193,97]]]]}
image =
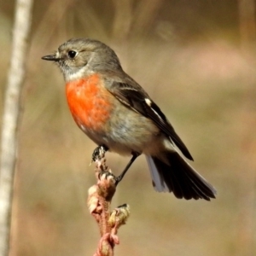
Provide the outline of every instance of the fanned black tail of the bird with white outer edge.
{"type": "Polygon", "coordinates": [[[177,198],[215,198],[216,189],[177,152],[166,152],[167,162],[154,156],[147,156],[154,189],[159,192],[173,192],[177,198]]]}

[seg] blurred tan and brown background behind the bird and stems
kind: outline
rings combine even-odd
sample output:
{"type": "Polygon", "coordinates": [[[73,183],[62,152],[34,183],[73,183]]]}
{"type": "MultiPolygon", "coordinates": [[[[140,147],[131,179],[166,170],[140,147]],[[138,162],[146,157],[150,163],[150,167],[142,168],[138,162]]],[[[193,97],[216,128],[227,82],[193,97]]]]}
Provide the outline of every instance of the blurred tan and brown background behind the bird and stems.
{"type": "MultiPolygon", "coordinates": [[[[96,145],[67,108],[64,80],[42,61],[69,38],[111,46],[172,122],[216,200],[154,192],[143,156],[113,207],[131,206],[116,255],[256,255],[256,62],[252,0],[44,0],[33,8],[15,177],[11,255],[92,255],[87,209],[96,145]]],[[[0,0],[1,115],[15,1],[0,0]]],[[[118,174],[128,158],[107,154],[118,174]]]]}

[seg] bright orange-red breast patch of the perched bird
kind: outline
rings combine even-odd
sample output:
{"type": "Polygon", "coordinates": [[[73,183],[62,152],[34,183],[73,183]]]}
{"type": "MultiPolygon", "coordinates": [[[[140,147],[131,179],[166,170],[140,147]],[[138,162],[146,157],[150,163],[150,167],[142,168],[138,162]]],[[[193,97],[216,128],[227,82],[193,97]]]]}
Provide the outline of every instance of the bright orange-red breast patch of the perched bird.
{"type": "Polygon", "coordinates": [[[99,131],[111,114],[110,93],[98,75],[77,79],[66,84],[67,103],[73,119],[87,131],[99,131]]]}

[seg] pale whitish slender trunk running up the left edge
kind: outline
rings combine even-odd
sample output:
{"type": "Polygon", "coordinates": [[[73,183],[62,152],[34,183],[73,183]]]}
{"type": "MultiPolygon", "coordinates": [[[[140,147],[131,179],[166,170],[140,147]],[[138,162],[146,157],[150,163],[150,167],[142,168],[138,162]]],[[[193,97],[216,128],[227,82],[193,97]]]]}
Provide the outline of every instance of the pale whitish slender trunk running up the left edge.
{"type": "Polygon", "coordinates": [[[10,219],[17,158],[20,95],[25,78],[27,41],[31,27],[32,0],[17,0],[9,76],[5,92],[0,176],[0,255],[9,255],[10,219]]]}

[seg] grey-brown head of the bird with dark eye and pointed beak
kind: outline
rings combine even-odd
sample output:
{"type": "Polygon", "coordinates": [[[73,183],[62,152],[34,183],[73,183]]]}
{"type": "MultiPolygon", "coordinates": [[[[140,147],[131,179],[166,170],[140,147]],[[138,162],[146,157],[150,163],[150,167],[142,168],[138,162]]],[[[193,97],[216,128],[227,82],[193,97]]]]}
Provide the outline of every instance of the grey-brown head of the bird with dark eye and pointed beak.
{"type": "Polygon", "coordinates": [[[42,57],[55,61],[66,81],[80,79],[92,73],[122,69],[118,56],[106,44],[90,38],[70,39],[55,51],[42,57]]]}

